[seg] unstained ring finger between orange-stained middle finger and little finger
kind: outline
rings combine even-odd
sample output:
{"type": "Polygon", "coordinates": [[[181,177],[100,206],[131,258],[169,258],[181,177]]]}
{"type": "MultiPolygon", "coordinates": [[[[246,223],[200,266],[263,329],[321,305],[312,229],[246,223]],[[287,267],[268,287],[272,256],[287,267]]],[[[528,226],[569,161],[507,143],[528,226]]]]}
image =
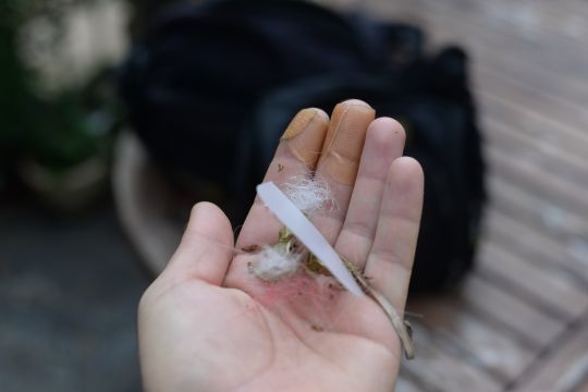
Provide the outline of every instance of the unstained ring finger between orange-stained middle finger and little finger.
{"type": "Polygon", "coordinates": [[[390,118],[377,119],[368,127],[347,216],[335,244],[341,255],[360,268],[376,235],[388,171],[402,156],[404,140],[404,128],[390,118]]]}

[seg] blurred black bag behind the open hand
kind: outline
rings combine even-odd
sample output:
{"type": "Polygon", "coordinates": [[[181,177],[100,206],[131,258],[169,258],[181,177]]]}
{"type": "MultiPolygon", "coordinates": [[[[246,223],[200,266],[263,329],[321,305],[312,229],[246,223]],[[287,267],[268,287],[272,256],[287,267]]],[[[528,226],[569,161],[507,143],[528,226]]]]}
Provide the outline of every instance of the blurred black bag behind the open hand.
{"type": "Polygon", "coordinates": [[[358,98],[397,119],[406,155],[426,179],[411,287],[436,290],[471,266],[483,164],[465,53],[428,56],[422,47],[416,27],[302,1],[186,4],[162,14],[136,45],[121,91],[154,158],[169,172],[222,187],[234,223],[299,109],[330,111],[358,98]]]}

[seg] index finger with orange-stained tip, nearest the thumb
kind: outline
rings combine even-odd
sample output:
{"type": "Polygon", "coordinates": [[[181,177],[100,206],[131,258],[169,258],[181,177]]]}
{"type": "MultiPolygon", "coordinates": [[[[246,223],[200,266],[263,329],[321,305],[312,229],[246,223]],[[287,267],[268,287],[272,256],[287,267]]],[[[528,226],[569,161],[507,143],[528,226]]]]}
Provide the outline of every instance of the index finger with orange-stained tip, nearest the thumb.
{"type": "MultiPolygon", "coordinates": [[[[280,185],[293,176],[309,177],[320,156],[328,124],[329,117],[320,109],[299,111],[285,130],[264,182],[280,185]]],[[[256,197],[241,230],[237,248],[274,242],[280,228],[256,197]]]]}

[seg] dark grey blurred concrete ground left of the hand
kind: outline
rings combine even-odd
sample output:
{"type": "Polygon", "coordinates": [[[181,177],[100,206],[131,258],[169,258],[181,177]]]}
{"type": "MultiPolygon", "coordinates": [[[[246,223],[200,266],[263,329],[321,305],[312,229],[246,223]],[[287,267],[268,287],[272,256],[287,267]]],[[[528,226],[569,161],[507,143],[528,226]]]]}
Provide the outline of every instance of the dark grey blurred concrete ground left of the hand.
{"type": "Polygon", "coordinates": [[[58,218],[0,207],[0,390],[140,391],[136,307],[149,279],[110,201],[58,218]]]}

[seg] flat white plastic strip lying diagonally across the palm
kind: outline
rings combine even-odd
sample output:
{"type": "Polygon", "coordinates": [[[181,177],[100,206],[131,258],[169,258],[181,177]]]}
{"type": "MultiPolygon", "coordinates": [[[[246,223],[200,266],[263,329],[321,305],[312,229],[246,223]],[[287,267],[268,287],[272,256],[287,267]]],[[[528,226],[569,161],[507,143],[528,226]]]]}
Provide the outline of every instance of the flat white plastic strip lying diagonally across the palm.
{"type": "Polygon", "coordinates": [[[294,233],[308,250],[318,257],[345,289],[355,295],[364,295],[333,247],[275,184],[267,182],[257,185],[257,194],[270,211],[294,233]]]}

